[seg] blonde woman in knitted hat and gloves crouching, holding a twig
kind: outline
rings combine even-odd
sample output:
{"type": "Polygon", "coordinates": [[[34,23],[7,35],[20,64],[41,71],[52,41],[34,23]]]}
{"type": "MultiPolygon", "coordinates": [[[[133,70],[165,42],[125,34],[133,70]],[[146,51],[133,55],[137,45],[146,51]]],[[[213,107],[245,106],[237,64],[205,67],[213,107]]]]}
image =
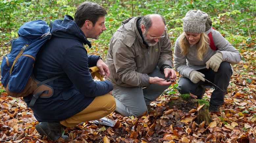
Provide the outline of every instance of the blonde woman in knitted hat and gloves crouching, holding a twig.
{"type": "Polygon", "coordinates": [[[181,74],[179,92],[192,93],[202,98],[203,85],[214,86],[210,99],[210,112],[219,112],[232,75],[230,64],[237,64],[241,55],[218,31],[212,29],[208,14],[200,10],[190,10],[183,18],[183,33],[178,37],[174,48],[174,67],[181,74]],[[209,46],[207,34],[212,32],[215,46],[209,46]],[[205,80],[207,79],[207,80],[205,80]]]}

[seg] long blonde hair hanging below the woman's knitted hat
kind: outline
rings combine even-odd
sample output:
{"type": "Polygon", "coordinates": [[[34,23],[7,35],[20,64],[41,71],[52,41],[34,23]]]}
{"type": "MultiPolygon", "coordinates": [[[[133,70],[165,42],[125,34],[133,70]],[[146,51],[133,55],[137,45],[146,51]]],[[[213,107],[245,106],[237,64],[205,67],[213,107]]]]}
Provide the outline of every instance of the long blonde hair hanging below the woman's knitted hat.
{"type": "MultiPolygon", "coordinates": [[[[189,52],[190,44],[185,35],[186,33],[183,32],[180,35],[179,45],[181,49],[181,53],[183,56],[186,56],[189,52]]],[[[207,52],[209,47],[209,37],[205,33],[201,33],[200,40],[197,44],[197,58],[202,61],[204,54],[207,52]]]]}

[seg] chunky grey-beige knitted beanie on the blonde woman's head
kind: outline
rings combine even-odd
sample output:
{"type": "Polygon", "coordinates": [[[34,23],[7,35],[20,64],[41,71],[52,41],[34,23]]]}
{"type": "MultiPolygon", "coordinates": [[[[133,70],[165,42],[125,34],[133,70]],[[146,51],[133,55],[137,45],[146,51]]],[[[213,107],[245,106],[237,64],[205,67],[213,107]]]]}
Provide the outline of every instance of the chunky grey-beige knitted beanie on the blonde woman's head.
{"type": "Polygon", "coordinates": [[[190,10],[183,20],[183,31],[189,33],[203,33],[208,14],[201,10],[190,10]]]}

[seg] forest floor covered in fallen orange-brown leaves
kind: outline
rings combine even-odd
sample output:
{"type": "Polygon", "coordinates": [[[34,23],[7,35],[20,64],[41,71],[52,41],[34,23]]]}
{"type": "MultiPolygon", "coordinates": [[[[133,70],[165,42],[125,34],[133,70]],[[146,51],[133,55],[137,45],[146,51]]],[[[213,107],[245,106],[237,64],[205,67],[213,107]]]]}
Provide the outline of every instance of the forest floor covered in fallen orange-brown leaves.
{"type": "MultiPolygon", "coordinates": [[[[212,122],[209,125],[195,122],[198,107],[193,104],[181,102],[175,108],[168,105],[170,101],[179,100],[178,93],[169,88],[151,102],[152,110],[148,115],[124,117],[113,112],[107,117],[115,121],[114,127],[89,121],[66,128],[65,134],[70,137],[68,142],[256,142],[256,52],[242,52],[245,60],[235,65],[221,112],[211,113],[212,122]]],[[[3,87],[1,89],[0,141],[51,142],[35,130],[38,122],[23,100],[10,97],[3,87]]],[[[206,90],[206,100],[209,101],[212,91],[206,90]]],[[[64,140],[59,139],[58,142],[64,140]]]]}

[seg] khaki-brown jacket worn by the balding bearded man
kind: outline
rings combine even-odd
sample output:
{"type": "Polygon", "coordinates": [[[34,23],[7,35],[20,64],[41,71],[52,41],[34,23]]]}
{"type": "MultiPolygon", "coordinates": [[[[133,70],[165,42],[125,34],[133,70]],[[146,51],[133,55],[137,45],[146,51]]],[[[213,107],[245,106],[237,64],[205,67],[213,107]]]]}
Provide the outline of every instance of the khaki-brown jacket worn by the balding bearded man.
{"type": "Polygon", "coordinates": [[[110,40],[106,64],[109,66],[110,80],[113,85],[123,87],[148,86],[149,73],[156,66],[166,64],[172,67],[172,51],[170,38],[159,39],[155,46],[146,48],[137,30],[136,22],[139,17],[131,17],[122,21],[110,40]]]}

